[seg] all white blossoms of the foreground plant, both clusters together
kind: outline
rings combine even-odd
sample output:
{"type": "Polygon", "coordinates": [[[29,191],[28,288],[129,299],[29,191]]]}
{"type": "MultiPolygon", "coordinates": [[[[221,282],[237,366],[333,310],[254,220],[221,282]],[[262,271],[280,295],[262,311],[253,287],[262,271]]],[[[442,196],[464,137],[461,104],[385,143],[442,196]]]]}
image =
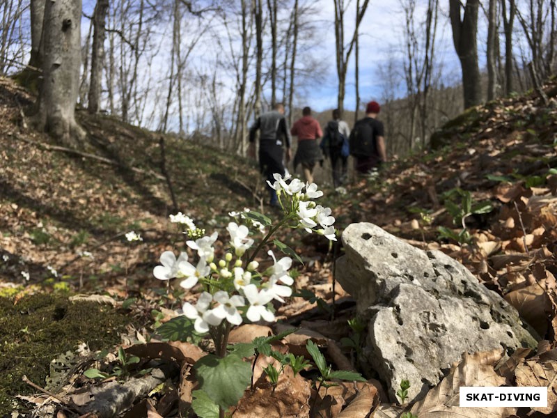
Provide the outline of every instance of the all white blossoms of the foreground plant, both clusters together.
{"type": "Polygon", "coordinates": [[[315,231],[329,240],[336,240],[331,209],[312,200],[323,195],[315,183],[302,183],[297,178],[287,183],[290,175],[285,178],[275,175],[274,179],[275,182],[269,185],[279,196],[283,219],[277,226],[272,226],[270,219],[256,212],[250,213],[249,209],[230,212],[229,215],[237,222],[230,222],[226,227],[230,240],[221,259],[215,255],[214,245],[219,238],[217,232],[205,235],[204,230],[197,229],[193,221],[181,212],[171,215],[171,222],[187,224],[190,240],[186,245],[195,251],[195,257],[190,260],[185,251],[178,257],[173,251],[164,251],[153,274],[159,280],[178,279],[185,289],[201,285],[202,292],[197,301],[194,304],[186,302],[182,307],[183,314],[194,320],[197,332],[209,332],[217,327],[223,330],[223,326],[240,325],[244,319],[251,322],[274,320],[270,302],[284,302],[284,297],[292,295],[290,286],[294,284],[294,279],[289,274],[292,258],[285,256],[278,259],[269,250],[267,254],[273,263],[263,271],[259,270],[255,258],[257,251],[267,244],[269,235],[279,226],[304,229],[309,233],[315,231]],[[250,228],[261,232],[267,227],[271,228],[269,234],[256,247],[250,228]]]}

